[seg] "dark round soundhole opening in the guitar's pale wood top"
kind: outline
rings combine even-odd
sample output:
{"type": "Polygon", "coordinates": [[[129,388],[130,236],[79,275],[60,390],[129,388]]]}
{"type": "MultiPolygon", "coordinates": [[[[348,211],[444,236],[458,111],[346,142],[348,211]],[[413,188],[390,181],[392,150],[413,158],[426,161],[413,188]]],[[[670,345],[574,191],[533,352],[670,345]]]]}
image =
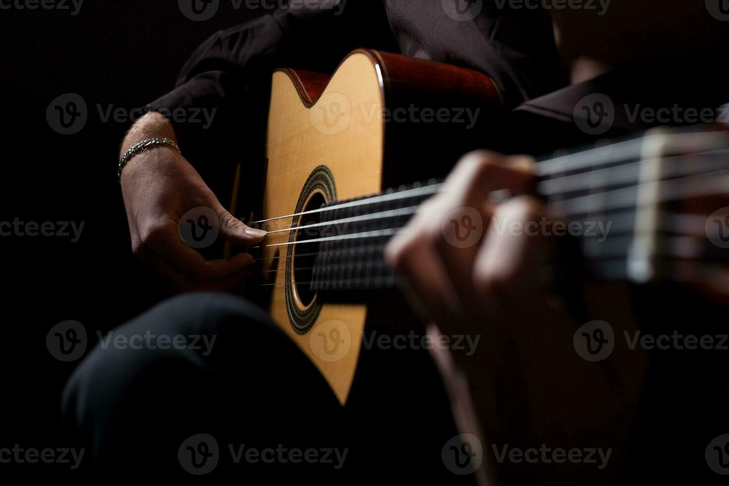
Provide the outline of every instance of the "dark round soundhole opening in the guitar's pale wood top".
{"type": "MultiPolygon", "coordinates": [[[[304,212],[319,209],[324,205],[324,195],[321,192],[314,192],[304,206],[304,212]]],[[[302,307],[308,307],[316,297],[316,291],[311,290],[313,265],[316,255],[319,253],[319,241],[313,243],[299,243],[307,240],[321,238],[321,227],[312,226],[321,221],[321,213],[311,213],[301,216],[296,232],[294,248],[294,284],[297,300],[302,307]]]]}

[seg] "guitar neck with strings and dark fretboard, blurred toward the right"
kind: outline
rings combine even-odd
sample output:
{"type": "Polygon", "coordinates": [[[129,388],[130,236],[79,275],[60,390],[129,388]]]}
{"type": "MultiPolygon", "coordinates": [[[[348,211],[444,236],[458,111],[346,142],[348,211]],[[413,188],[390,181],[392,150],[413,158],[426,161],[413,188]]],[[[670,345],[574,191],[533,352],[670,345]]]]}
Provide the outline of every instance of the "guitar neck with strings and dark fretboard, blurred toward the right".
{"type": "MultiPolygon", "coordinates": [[[[538,162],[535,193],[564,220],[539,222],[531,231],[574,237],[570,240],[585,262],[582,270],[607,280],[649,281],[658,276],[658,262],[666,271],[667,258],[706,259],[711,247],[687,247],[678,230],[703,224],[704,219],[697,222],[693,216],[671,212],[671,203],[724,191],[729,146],[724,133],[683,135],[685,140],[671,136],[670,144],[655,138],[661,135],[644,136],[538,162]],[[693,250],[687,254],[687,248],[693,250]]],[[[432,180],[338,201],[325,206],[316,222],[300,224],[304,229],[297,240],[308,243],[297,251],[315,255],[311,290],[394,286],[396,277],[384,262],[383,249],[441,187],[432,180]]],[[[510,222],[482,223],[484,230],[490,225],[488,230],[529,234],[529,228],[515,228],[510,222]]]]}

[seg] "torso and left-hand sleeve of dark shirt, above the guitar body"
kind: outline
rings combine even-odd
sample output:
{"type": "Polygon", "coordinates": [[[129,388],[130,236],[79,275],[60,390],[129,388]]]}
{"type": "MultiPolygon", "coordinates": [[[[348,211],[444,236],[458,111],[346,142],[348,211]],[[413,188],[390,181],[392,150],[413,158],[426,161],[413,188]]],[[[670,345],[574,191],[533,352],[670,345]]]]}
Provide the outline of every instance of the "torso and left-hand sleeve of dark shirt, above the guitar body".
{"type": "Polygon", "coordinates": [[[488,74],[507,109],[560,86],[544,12],[510,10],[507,4],[499,9],[497,2],[476,0],[470,12],[478,15],[456,20],[452,16],[464,17],[455,11],[449,16],[444,8],[456,2],[467,5],[462,0],[319,0],[330,8],[277,10],[211,36],[187,61],[175,89],[152,107],[217,108],[209,128],[173,120],[183,153],[208,180],[246,162],[239,158],[241,143],[249,157],[262,156],[270,75],[278,67],[331,72],[357,47],[398,52],[488,74]]]}

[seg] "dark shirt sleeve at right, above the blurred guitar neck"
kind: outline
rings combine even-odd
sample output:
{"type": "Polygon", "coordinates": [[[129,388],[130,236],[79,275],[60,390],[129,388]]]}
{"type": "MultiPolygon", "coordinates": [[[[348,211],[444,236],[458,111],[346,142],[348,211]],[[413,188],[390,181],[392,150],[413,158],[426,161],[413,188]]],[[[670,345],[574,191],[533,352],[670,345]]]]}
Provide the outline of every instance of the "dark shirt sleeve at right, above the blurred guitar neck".
{"type": "Polygon", "coordinates": [[[725,103],[729,91],[716,59],[642,60],[522,103],[509,117],[509,151],[548,155],[660,126],[726,124],[725,103]]]}

